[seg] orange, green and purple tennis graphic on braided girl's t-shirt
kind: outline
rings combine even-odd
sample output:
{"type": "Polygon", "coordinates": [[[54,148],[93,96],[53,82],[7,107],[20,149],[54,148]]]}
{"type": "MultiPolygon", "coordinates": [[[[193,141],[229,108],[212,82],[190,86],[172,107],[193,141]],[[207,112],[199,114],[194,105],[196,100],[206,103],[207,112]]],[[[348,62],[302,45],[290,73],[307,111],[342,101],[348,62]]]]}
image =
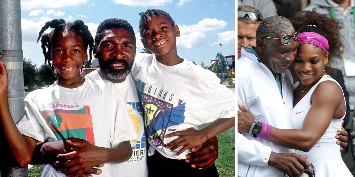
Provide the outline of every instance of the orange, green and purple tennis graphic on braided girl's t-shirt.
{"type": "Polygon", "coordinates": [[[50,122],[50,128],[58,141],[67,138],[80,138],[95,144],[90,107],[83,106],[73,110],[43,110],[42,114],[50,122]]]}

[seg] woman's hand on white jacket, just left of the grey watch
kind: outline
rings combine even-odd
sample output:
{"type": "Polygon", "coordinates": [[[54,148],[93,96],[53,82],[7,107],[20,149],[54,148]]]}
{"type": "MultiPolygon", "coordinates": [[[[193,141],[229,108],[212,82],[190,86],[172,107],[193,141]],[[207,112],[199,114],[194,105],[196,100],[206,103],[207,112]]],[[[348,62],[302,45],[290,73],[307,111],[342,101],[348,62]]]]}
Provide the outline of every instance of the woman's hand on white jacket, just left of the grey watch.
{"type": "Polygon", "coordinates": [[[241,103],[238,103],[238,107],[242,111],[238,111],[238,131],[247,133],[255,119],[253,115],[250,114],[249,110],[247,110],[241,103]]]}

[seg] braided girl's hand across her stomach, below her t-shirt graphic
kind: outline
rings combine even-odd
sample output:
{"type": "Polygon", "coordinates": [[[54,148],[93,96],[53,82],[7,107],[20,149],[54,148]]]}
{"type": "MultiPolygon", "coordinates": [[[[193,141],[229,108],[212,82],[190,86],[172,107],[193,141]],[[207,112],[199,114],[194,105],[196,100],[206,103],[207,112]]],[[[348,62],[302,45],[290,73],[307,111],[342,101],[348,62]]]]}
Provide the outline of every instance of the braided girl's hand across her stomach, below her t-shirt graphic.
{"type": "MultiPolygon", "coordinates": [[[[65,142],[79,149],[70,153],[58,155],[58,159],[61,159],[61,161],[56,161],[54,165],[58,167],[58,171],[69,173],[67,176],[82,175],[84,172],[102,164],[104,161],[103,148],[101,147],[97,147],[92,143],[77,138],[69,138],[66,139],[65,142]]],[[[92,171],[95,170],[96,169],[92,169],[92,171]]],[[[92,172],[89,171],[88,173],[92,172]]]]}

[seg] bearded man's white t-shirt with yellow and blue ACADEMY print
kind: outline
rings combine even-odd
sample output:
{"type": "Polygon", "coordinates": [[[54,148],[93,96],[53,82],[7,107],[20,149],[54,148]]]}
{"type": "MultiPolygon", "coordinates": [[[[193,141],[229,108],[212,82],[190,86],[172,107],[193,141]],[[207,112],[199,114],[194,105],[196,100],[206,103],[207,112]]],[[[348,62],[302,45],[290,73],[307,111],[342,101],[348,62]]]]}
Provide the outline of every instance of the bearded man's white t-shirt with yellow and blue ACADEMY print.
{"type": "MultiPolygon", "coordinates": [[[[85,76],[87,79],[102,80],[98,70],[95,70],[85,76]]],[[[133,154],[131,158],[125,162],[115,164],[115,177],[147,177],[147,153],[146,153],[146,136],[144,133],[143,110],[141,108],[140,99],[136,81],[132,74],[128,74],[126,80],[121,83],[114,84],[122,94],[122,99],[125,101],[129,115],[133,121],[138,138],[131,140],[133,154]]],[[[113,170],[114,171],[114,170],[113,170]]]]}

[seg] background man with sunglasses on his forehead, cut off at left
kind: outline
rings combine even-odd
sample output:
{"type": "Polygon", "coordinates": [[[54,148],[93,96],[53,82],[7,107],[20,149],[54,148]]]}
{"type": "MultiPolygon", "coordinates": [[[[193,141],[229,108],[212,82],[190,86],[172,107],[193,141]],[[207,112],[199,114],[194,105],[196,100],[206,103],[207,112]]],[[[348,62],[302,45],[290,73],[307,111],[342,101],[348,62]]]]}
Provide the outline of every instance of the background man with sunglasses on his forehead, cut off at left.
{"type": "Polygon", "coordinates": [[[263,16],[254,7],[238,7],[238,59],[242,47],[256,46],[256,29],[263,16]]]}

